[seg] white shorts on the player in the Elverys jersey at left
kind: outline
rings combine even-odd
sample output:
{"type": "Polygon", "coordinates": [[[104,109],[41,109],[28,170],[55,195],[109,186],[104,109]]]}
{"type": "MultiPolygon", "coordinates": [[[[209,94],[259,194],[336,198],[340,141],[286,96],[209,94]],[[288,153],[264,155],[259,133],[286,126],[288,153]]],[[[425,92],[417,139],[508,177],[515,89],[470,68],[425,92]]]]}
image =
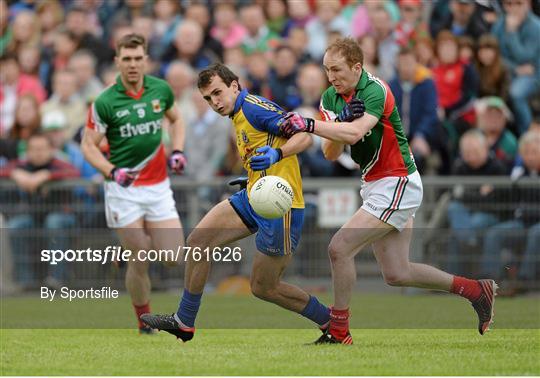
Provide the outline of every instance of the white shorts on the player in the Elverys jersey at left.
{"type": "Polygon", "coordinates": [[[124,188],[114,181],[105,186],[105,217],[110,228],[125,227],[137,219],[150,222],[178,219],[170,181],[124,188]]]}

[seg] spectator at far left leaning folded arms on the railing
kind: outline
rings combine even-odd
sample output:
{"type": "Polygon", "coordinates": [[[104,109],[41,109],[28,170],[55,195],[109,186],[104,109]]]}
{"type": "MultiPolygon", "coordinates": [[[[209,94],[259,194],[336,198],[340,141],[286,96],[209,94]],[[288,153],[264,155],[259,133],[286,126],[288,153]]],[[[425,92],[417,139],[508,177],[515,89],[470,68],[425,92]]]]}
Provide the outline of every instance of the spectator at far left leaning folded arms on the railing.
{"type": "MultiPolygon", "coordinates": [[[[32,246],[33,238],[30,235],[35,235],[35,231],[29,234],[28,230],[37,227],[44,217],[47,247],[65,250],[68,247],[66,230],[75,225],[75,216],[72,213],[53,211],[40,214],[36,211],[44,209],[44,203],[61,208],[59,203],[54,203],[50,191],[42,190],[43,184],[79,176],[79,172],[71,164],[54,158],[54,148],[43,134],[34,134],[29,138],[26,156],[25,160],[14,161],[0,169],[0,177],[11,178],[20,191],[18,215],[8,220],[8,229],[11,231],[12,251],[15,251],[13,260],[17,280],[22,286],[34,284],[36,278],[31,266],[33,261],[37,261],[37,254],[32,256],[32,253],[37,252],[36,247],[39,244],[32,246]]],[[[51,286],[60,286],[66,278],[65,273],[64,264],[51,265],[50,276],[46,282],[51,286]]]]}

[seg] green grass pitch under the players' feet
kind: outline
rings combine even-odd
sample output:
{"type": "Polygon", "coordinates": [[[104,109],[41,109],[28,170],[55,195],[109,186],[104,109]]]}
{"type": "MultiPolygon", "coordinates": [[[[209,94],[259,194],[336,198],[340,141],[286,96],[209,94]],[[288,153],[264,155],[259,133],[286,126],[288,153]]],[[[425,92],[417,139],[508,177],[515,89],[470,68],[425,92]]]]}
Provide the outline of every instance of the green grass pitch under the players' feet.
{"type": "MultiPolygon", "coordinates": [[[[177,297],[154,295],[152,303],[171,312],[177,297]]],[[[459,298],[357,295],[351,347],[304,345],[317,330],[251,297],[208,295],[203,303],[197,335],[184,344],[165,333],[112,329],[133,325],[126,296],[50,305],[3,299],[1,374],[540,375],[537,298],[498,299],[495,327],[480,336],[472,308],[459,298]],[[80,328],[91,328],[102,316],[111,329],[38,329],[74,327],[77,317],[80,328]]]]}

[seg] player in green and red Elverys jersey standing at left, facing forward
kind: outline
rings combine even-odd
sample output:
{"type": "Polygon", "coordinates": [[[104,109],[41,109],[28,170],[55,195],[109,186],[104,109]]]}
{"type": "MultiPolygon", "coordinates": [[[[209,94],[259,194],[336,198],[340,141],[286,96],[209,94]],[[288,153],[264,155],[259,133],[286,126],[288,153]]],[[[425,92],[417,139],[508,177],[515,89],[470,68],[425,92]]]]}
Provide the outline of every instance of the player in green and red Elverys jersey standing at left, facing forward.
{"type": "MultiPolygon", "coordinates": [[[[137,34],[117,44],[115,63],[120,71],[116,83],[92,104],[82,141],[86,159],[107,178],[105,213],[124,248],[175,250],[184,243],[180,218],[167,176],[162,122],[171,123],[173,152],[170,168],[181,174],[186,164],[184,125],[169,85],[144,75],[147,61],[145,39],[137,34]],[[107,137],[107,160],[98,145],[107,137]]],[[[150,278],[147,261],[129,261],[126,287],[131,295],[141,332],[151,329],[140,320],[150,312],[150,278]]]]}

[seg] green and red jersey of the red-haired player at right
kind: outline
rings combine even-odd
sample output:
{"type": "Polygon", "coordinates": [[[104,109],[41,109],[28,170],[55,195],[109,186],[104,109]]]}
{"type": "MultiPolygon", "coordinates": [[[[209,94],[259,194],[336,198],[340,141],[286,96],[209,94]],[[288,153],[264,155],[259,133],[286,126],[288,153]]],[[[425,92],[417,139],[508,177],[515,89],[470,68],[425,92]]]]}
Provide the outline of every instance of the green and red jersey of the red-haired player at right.
{"type": "MultiPolygon", "coordinates": [[[[360,165],[365,181],[383,177],[408,176],[416,171],[394,95],[388,84],[362,70],[356,85],[356,97],[364,101],[366,113],[379,121],[364,137],[351,146],[351,157],[360,165]]],[[[336,93],[334,87],[322,95],[320,112],[324,121],[333,122],[352,99],[336,93]]]]}

